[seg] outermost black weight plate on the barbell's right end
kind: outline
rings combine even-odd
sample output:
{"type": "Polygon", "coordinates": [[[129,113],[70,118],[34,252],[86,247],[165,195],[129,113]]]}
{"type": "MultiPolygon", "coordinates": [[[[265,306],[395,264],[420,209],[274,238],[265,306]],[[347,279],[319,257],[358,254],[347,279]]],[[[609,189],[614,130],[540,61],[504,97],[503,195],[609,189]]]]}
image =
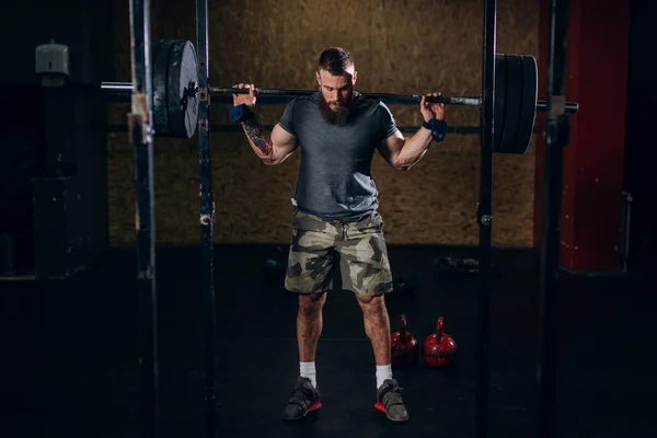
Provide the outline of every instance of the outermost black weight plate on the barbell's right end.
{"type": "Polygon", "coordinates": [[[523,154],[529,149],[537,116],[538,69],[533,56],[522,56],[522,102],[516,148],[508,153],[523,154]]]}

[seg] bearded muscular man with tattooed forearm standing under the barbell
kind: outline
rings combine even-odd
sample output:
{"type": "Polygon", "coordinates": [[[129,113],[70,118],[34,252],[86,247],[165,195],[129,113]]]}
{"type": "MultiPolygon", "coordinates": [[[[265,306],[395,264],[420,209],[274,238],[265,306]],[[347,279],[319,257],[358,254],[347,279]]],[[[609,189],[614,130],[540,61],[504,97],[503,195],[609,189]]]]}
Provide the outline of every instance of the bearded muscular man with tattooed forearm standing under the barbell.
{"type": "MultiPolygon", "coordinates": [[[[425,124],[405,139],[385,104],[355,91],[357,72],[347,50],[324,50],[315,76],[319,92],[293,99],[272,131],[254,117],[242,122],[253,151],[265,164],[280,164],[299,146],[301,149],[285,279],[286,289],[299,295],[300,372],[284,418],[300,419],[321,406],[315,350],[338,253],[343,289],[355,293],[373,349],[376,406],[391,420],[405,422],[408,412],[391,370],[384,295],[392,290],[392,274],[370,165],[377,149],[393,169],[410,170],[431,142],[427,122],[442,120],[445,107],[423,97],[419,111],[425,124]]],[[[249,94],[233,94],[233,100],[235,106],[245,104],[254,115],[255,87],[234,87],[250,89],[249,94]]]]}

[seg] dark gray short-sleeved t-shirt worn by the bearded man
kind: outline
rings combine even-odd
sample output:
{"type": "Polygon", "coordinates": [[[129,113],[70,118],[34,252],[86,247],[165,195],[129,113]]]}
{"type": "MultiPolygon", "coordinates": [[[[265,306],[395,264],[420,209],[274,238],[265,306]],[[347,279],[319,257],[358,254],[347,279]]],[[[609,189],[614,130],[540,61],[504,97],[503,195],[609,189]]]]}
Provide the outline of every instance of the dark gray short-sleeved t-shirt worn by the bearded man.
{"type": "Polygon", "coordinates": [[[322,118],[316,92],[293,99],[279,125],[299,139],[295,203],[300,211],[344,221],[377,211],[372,157],[377,145],[397,130],[383,102],[355,93],[349,123],[334,126],[322,118]]]}

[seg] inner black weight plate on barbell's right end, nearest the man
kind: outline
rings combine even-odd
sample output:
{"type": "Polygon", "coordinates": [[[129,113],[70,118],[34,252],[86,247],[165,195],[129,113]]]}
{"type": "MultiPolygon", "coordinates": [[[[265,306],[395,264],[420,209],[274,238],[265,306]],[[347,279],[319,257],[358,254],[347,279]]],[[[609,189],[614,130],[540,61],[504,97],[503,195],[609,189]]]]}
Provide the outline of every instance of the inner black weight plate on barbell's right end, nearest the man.
{"type": "MultiPolygon", "coordinates": [[[[518,55],[506,55],[507,90],[505,94],[504,129],[499,141],[499,153],[514,153],[517,149],[518,125],[522,106],[522,60],[518,55]]],[[[500,96],[502,97],[502,96],[500,96]]]]}

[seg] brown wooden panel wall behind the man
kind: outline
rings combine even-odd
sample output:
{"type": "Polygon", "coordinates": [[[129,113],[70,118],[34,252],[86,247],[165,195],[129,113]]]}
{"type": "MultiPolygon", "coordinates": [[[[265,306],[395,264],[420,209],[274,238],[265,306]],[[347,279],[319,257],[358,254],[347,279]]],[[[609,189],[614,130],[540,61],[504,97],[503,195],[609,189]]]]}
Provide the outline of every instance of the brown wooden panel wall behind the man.
{"type": "MultiPolygon", "coordinates": [[[[152,0],[152,36],[196,43],[195,2],[152,0]],[[183,5],[184,4],[184,5],[183,5]]],[[[130,80],[129,3],[115,1],[115,78],[130,80]]],[[[344,46],[355,56],[364,92],[479,95],[483,5],[474,0],[222,0],[210,2],[212,87],[314,88],[319,54],[344,46]],[[433,21],[430,21],[433,19],[433,21]]],[[[538,58],[538,2],[498,1],[497,51],[538,58]]],[[[540,67],[539,67],[540,68],[540,67]]],[[[276,124],[284,105],[260,108],[276,124]]],[[[391,105],[401,126],[419,126],[416,106],[391,105]]],[[[108,106],[125,124],[127,104],[108,106]]],[[[228,124],[229,106],[211,106],[212,124],[228,124]]],[[[479,126],[476,107],[450,106],[451,126],[479,126]]],[[[265,166],[240,134],[214,134],[215,239],[221,243],[286,243],[299,155],[265,166]]],[[[479,136],[451,135],[411,172],[395,172],[376,154],[372,174],[390,244],[477,243],[479,136]]],[[[198,140],[157,139],[157,235],[164,244],[196,244],[198,140]]],[[[499,246],[531,246],[534,147],[496,155],[494,232],[499,246]]],[[[132,153],[126,132],[108,141],[110,233],[114,245],[135,239],[132,153]]]]}

